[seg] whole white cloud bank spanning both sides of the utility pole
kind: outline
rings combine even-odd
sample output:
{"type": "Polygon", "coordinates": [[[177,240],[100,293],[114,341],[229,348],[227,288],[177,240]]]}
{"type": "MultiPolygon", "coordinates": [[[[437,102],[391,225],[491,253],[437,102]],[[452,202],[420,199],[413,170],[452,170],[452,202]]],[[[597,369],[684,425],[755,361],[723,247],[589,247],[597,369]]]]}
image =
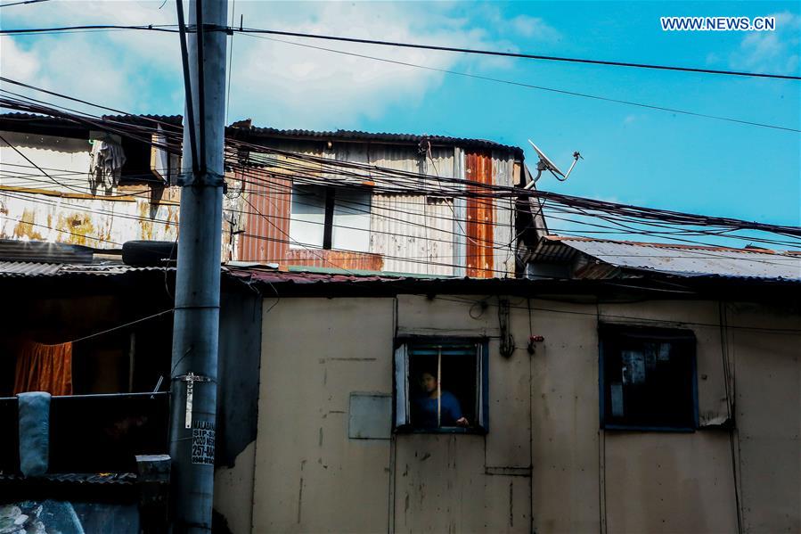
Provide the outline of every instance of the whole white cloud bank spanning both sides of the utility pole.
{"type": "MultiPolygon", "coordinates": [[[[4,13],[4,27],[174,24],[174,2],[159,10],[160,4],[160,0],[53,2],[47,9],[31,4],[12,16],[4,13]]],[[[542,19],[519,15],[506,20],[493,5],[482,9],[481,16],[471,14],[475,19],[471,21],[460,14],[464,10],[458,3],[240,2],[235,19],[238,23],[242,13],[246,28],[511,51],[517,48],[506,35],[558,36],[542,19]]],[[[477,72],[512,64],[504,58],[413,48],[275,38],[432,69],[477,72]]],[[[236,35],[233,39],[229,120],[250,117],[256,124],[276,127],[355,127],[360,119],[379,118],[393,106],[413,109],[437,91],[445,77],[436,70],[264,38],[236,35]]],[[[9,78],[24,78],[34,85],[134,112],[183,111],[175,34],[118,31],[15,37],[4,39],[3,45],[4,76],[9,78]]]]}

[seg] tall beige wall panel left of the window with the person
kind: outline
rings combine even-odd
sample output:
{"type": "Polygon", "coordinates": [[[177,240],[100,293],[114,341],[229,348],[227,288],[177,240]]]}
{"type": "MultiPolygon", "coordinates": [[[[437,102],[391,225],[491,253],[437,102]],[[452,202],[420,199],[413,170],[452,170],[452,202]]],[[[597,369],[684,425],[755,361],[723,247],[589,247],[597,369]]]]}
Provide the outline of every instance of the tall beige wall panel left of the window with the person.
{"type": "Polygon", "coordinates": [[[391,392],[393,301],[283,299],[265,316],[253,530],[387,529],[388,440],[348,440],[351,391],[391,392]]]}

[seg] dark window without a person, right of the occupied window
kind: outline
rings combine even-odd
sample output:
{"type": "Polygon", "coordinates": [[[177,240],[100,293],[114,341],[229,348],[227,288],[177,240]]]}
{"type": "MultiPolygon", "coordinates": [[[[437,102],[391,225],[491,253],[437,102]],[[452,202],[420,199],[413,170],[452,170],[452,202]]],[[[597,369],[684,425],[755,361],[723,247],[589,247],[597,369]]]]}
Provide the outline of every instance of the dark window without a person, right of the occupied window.
{"type": "Polygon", "coordinates": [[[695,337],[687,330],[601,326],[601,426],[694,430],[695,337]]]}

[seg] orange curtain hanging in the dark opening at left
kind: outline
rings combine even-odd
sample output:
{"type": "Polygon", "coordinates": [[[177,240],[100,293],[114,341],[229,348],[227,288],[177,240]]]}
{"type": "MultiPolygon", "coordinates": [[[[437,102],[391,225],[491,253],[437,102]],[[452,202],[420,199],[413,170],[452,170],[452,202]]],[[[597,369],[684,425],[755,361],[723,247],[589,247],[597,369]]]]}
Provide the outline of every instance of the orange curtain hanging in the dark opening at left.
{"type": "Polygon", "coordinates": [[[72,395],[72,343],[43,345],[26,341],[17,356],[14,395],[25,391],[47,391],[72,395]]]}

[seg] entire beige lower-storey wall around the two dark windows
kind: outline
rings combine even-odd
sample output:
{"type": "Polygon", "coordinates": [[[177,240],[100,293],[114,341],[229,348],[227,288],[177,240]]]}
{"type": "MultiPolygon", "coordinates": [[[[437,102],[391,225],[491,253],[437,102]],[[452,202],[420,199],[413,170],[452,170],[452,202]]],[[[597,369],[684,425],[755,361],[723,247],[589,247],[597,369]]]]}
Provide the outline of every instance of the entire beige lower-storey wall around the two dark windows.
{"type": "Polygon", "coordinates": [[[801,337],[742,328],[801,329],[799,316],[729,305],[721,335],[716,302],[531,300],[529,321],[511,297],[519,348],[505,359],[497,300],[477,300],[285,298],[266,314],[255,464],[241,467],[255,473],[252,531],[731,532],[737,498],[745,531],[799,530],[801,337]],[[702,427],[726,418],[728,362],[733,439],[600,431],[599,319],[695,333],[702,427]],[[533,357],[529,332],[545,338],[533,357]],[[486,436],[348,439],[350,393],[392,392],[396,333],[490,336],[486,436]]]}

